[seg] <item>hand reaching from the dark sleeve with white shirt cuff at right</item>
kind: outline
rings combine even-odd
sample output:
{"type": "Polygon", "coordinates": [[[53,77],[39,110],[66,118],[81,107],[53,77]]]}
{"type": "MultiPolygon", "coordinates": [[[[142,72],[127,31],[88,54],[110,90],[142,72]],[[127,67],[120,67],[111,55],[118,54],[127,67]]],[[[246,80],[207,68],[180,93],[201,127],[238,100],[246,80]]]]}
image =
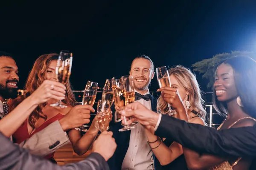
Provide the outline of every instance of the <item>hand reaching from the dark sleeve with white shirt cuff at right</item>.
{"type": "Polygon", "coordinates": [[[127,120],[126,125],[131,124],[135,120],[140,122],[141,125],[150,125],[154,126],[157,124],[157,120],[159,114],[148,110],[145,106],[140,104],[139,102],[133,102],[125,107],[125,110],[122,111],[122,124],[125,125],[124,117],[131,117],[131,119],[127,120]]]}

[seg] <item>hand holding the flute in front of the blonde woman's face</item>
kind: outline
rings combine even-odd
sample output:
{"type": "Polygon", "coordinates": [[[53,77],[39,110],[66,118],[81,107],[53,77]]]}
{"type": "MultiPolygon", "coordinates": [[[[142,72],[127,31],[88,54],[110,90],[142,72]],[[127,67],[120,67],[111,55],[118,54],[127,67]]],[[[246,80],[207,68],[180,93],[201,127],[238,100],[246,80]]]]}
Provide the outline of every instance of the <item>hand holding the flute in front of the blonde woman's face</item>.
{"type": "Polygon", "coordinates": [[[175,111],[184,111],[184,105],[182,99],[176,88],[171,87],[163,87],[158,89],[157,91],[161,91],[161,95],[163,99],[168,102],[175,111]]]}

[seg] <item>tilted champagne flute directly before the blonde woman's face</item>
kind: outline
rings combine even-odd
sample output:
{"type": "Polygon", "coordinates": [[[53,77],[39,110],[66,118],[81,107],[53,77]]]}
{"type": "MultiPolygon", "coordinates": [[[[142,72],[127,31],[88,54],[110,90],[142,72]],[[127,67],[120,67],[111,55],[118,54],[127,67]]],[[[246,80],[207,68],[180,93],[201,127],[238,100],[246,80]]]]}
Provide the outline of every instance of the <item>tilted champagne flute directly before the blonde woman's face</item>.
{"type": "MultiPolygon", "coordinates": [[[[168,72],[168,69],[166,68],[166,66],[157,68],[157,81],[158,81],[160,88],[163,88],[166,86],[171,87],[171,80],[170,80],[169,72],[168,72]]],[[[167,103],[167,104],[168,104],[168,108],[169,108],[168,114],[170,116],[175,114],[176,112],[174,112],[172,110],[171,105],[169,103],[167,103]]]]}

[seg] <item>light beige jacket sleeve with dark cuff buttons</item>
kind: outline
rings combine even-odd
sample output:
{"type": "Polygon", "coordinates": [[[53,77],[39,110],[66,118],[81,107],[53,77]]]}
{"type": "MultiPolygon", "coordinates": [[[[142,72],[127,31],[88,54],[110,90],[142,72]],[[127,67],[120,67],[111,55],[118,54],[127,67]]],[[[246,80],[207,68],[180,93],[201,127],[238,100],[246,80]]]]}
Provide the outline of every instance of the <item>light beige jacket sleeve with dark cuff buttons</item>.
{"type": "Polygon", "coordinates": [[[69,142],[67,133],[63,131],[59,121],[55,121],[19,145],[33,155],[46,156],[69,142]]]}

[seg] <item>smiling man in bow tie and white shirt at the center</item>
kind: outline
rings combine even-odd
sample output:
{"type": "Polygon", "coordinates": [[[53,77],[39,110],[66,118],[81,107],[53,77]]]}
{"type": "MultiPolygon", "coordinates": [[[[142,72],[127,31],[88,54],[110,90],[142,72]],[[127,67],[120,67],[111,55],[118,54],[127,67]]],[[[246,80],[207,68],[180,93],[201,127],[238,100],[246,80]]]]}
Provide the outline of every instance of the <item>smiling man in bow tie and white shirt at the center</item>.
{"type": "MultiPolygon", "coordinates": [[[[135,102],[141,103],[147,109],[156,111],[157,101],[149,93],[148,85],[154,77],[154,64],[145,55],[135,58],[131,64],[130,75],[134,77],[135,102]]],[[[108,161],[111,170],[154,170],[155,159],[151,147],[147,143],[144,127],[140,124],[134,129],[119,132],[123,126],[118,122],[115,106],[110,130],[116,139],[116,152],[108,161]],[[113,123],[114,122],[114,123],[113,123]]]]}

